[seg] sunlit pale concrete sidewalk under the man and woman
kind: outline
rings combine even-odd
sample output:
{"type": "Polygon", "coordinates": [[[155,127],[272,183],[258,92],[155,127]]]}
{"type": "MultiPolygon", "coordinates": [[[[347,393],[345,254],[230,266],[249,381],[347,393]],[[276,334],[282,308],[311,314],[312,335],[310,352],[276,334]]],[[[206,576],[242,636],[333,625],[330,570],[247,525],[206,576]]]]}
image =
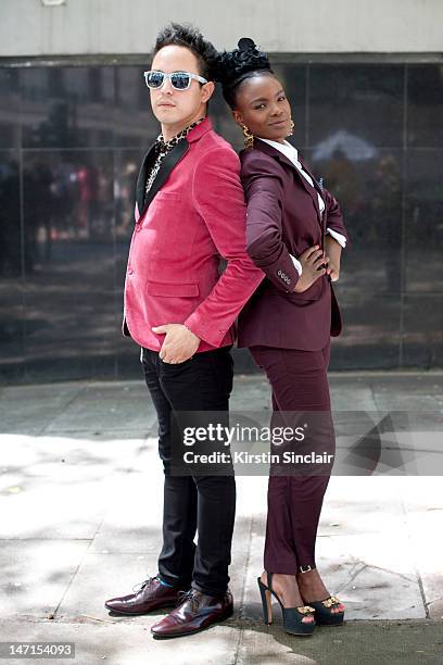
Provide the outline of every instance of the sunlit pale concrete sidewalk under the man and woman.
{"type": "MultiPolygon", "coordinates": [[[[443,409],[438,372],[331,374],[330,385],[336,411],[443,409]]],[[[266,422],[263,377],[236,377],[231,409],[266,422]]],[[[0,431],[0,641],[75,641],[81,665],[443,663],[441,477],[331,478],[317,563],[347,622],[306,640],[281,630],[278,607],[263,625],[255,578],[266,478],[239,477],[233,618],[156,641],[159,615],[116,617],[103,606],[156,573],[162,468],[144,385],[4,387],[0,431]]]]}

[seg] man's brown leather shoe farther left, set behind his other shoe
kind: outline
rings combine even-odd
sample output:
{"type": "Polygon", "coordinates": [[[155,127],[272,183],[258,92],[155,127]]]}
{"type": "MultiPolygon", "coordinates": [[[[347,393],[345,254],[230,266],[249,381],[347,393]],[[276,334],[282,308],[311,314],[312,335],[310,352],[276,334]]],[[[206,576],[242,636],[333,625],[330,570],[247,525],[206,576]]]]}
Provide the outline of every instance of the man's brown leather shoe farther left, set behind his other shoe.
{"type": "Polygon", "coordinates": [[[118,614],[131,616],[148,614],[160,607],[174,607],[179,599],[179,592],[185,591],[181,587],[166,587],[162,585],[159,576],[145,579],[136,593],[112,598],[104,603],[106,610],[118,614]]]}

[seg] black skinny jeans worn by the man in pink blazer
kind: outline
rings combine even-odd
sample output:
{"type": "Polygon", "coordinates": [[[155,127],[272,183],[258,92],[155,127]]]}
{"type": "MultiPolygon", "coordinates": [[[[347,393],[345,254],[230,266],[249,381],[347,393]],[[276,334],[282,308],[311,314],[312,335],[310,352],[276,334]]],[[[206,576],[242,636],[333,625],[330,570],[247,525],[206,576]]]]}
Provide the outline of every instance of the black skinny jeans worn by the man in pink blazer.
{"type": "MultiPolygon", "coordinates": [[[[174,476],[170,461],[179,427],[174,413],[219,411],[227,424],[232,390],[230,347],[197,353],[185,363],[164,363],[156,351],[143,349],[147,386],[159,418],[159,454],[163,461],[163,548],[159,573],[174,586],[192,587],[208,595],[223,594],[236,512],[233,476],[174,476]],[[193,539],[199,534],[199,544],[193,539]]],[[[181,447],[181,441],[179,442],[181,447]]]]}

